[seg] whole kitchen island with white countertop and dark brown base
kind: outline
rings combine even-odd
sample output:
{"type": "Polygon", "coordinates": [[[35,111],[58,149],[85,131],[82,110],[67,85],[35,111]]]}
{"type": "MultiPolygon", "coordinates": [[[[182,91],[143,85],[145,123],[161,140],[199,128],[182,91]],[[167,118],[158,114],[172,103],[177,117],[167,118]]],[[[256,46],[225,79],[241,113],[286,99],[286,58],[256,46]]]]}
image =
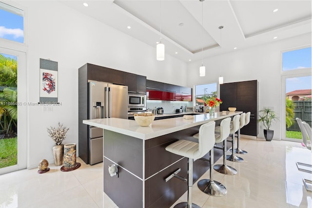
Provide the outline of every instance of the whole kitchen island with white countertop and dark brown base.
{"type": "MultiPolygon", "coordinates": [[[[196,141],[193,135],[209,121],[242,112],[219,112],[155,120],[148,127],[120,118],[83,120],[84,124],[103,129],[103,191],[119,208],[169,208],[187,190],[182,181],[165,178],[178,169],[187,177],[187,158],[165,148],[179,139],[196,141]],[[116,164],[118,177],[110,176],[108,166],[116,164]]],[[[221,153],[222,155],[222,153],[221,153]]],[[[205,155],[209,159],[209,153],[205,155]]],[[[217,158],[215,158],[217,159],[217,158]]],[[[194,162],[194,181],[209,169],[203,160],[194,162]]]]}

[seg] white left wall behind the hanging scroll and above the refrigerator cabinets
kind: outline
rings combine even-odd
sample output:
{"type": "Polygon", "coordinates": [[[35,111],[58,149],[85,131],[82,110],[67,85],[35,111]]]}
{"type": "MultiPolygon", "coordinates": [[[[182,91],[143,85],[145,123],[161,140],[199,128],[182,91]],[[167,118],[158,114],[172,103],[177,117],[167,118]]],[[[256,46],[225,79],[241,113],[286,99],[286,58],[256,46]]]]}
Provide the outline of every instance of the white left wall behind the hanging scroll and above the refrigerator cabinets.
{"type": "Polygon", "coordinates": [[[16,2],[26,8],[28,25],[28,84],[19,86],[27,88],[27,102],[39,102],[39,58],[50,58],[59,64],[61,106],[52,106],[52,111],[28,106],[28,168],[38,167],[41,159],[54,162],[54,143],[46,130],[58,122],[70,128],[63,143],[78,144],[78,68],[85,63],[186,86],[187,64],[174,57],[166,55],[164,61],[156,61],[155,48],[57,1],[16,2]],[[171,80],[173,76],[175,79],[171,80]]]}

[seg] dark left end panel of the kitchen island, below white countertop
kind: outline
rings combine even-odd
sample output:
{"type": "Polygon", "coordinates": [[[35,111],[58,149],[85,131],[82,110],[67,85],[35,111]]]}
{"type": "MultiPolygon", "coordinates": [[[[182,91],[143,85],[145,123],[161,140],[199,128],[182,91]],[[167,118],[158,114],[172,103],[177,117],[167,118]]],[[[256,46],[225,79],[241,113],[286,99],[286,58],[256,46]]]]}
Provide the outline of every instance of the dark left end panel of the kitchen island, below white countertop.
{"type": "Polygon", "coordinates": [[[118,208],[143,208],[144,140],[108,130],[103,130],[103,135],[104,192],[118,208]],[[108,172],[108,166],[114,163],[118,177],[108,172]]]}

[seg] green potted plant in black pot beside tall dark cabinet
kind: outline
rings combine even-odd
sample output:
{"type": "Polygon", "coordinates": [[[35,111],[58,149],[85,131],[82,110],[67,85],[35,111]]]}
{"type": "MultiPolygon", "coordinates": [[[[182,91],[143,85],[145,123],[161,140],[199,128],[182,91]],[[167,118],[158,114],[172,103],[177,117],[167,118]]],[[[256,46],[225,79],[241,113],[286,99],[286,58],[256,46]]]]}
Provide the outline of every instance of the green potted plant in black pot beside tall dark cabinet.
{"type": "Polygon", "coordinates": [[[263,108],[259,111],[258,122],[262,122],[265,129],[263,129],[264,137],[267,141],[271,141],[273,138],[274,131],[270,130],[273,121],[277,121],[279,118],[276,113],[270,108],[263,108]]]}

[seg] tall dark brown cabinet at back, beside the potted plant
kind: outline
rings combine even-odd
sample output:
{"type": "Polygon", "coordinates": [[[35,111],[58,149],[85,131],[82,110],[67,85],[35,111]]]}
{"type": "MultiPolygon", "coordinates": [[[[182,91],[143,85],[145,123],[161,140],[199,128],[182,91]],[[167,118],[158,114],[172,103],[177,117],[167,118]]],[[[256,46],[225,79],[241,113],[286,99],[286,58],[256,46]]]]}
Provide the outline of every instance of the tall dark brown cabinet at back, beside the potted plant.
{"type": "Polygon", "coordinates": [[[241,134],[258,135],[258,81],[232,82],[220,85],[220,111],[236,107],[236,111],[251,112],[250,123],[243,127],[241,134]]]}

